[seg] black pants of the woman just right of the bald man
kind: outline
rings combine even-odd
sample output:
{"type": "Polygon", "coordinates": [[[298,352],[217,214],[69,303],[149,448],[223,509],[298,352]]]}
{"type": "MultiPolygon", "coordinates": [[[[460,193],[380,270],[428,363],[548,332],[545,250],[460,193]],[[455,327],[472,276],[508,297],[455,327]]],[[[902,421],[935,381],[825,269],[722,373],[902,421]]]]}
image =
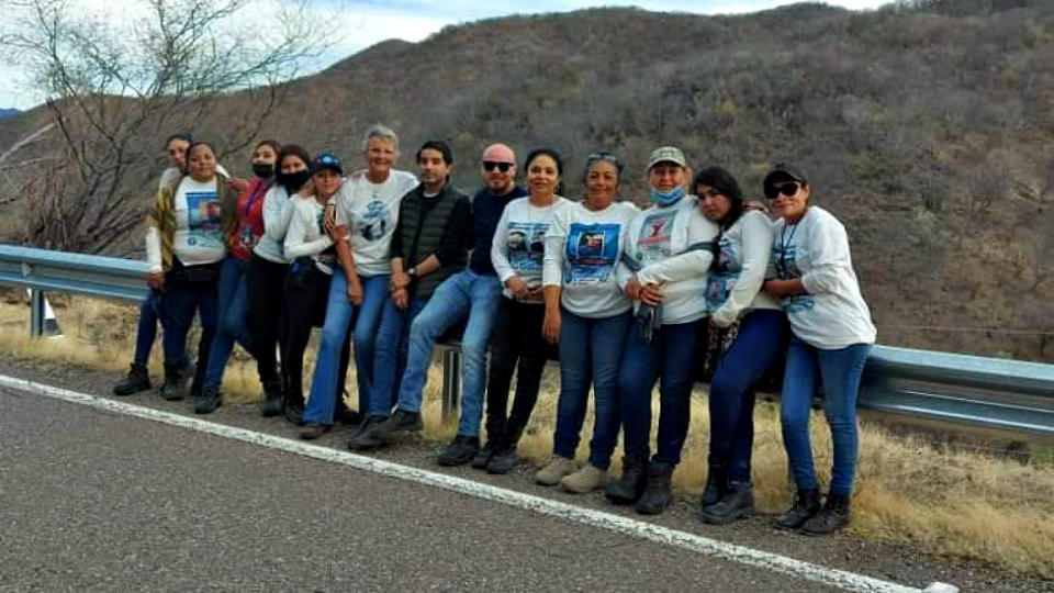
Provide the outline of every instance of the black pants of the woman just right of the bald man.
{"type": "Polygon", "coordinates": [[[541,336],[545,316],[542,304],[520,303],[506,296],[502,296],[498,304],[491,333],[491,367],[486,383],[486,434],[487,439],[498,447],[512,447],[519,441],[538,401],[546,361],[557,358],[558,346],[541,336]],[[517,362],[516,398],[512,413],[508,413],[508,391],[517,362]]]}

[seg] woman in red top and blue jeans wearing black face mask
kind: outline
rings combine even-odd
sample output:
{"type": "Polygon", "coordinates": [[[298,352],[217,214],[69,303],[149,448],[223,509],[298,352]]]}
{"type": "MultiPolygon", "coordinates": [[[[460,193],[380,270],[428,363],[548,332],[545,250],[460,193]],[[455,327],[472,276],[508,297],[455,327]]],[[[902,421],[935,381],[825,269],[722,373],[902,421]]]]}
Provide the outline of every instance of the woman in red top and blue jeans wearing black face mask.
{"type": "MultiPolygon", "coordinates": [[[[226,237],[227,258],[223,262],[216,286],[218,324],[209,350],[204,384],[194,399],[194,412],[198,414],[209,414],[222,405],[220,384],[234,343],[237,342],[246,350],[254,353],[248,324],[249,290],[246,271],[249,258],[264,235],[264,197],[274,183],[274,163],[281,148],[278,142],[266,139],[253,149],[253,172],[256,177],[238,197],[238,220],[232,236],[226,237]]],[[[261,371],[261,379],[265,376],[267,373],[261,371]]],[[[266,390],[267,381],[264,384],[266,390]]],[[[278,387],[277,382],[274,387],[278,387]]]]}

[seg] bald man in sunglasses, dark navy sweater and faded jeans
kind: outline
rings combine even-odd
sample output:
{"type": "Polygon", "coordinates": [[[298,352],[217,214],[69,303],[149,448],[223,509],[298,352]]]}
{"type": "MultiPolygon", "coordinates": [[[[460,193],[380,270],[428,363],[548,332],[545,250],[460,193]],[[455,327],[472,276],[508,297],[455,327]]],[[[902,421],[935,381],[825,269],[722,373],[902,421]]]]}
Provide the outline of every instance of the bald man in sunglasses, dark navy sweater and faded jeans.
{"type": "Polygon", "coordinates": [[[422,390],[431,363],[436,338],[468,320],[461,338],[461,421],[453,443],[438,458],[440,465],[460,466],[480,451],[483,391],[486,385],[486,348],[497,316],[502,282],[491,264],[494,230],[508,202],[527,195],[516,184],[516,155],[504,144],[492,144],[480,158],[483,189],[472,199],[472,255],[469,267],[436,288],[410,328],[406,371],[399,388],[395,413],[377,430],[352,437],[352,449],[389,444],[399,435],[421,429],[422,390]]]}

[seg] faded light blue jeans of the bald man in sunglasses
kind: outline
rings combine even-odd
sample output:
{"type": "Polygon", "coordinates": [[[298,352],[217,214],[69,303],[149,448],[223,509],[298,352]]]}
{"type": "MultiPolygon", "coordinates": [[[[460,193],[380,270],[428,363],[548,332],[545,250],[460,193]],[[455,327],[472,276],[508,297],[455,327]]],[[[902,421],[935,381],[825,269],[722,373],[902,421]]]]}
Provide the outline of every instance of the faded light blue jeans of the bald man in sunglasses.
{"type": "Polygon", "coordinates": [[[481,276],[468,269],[447,278],[436,288],[410,327],[406,371],[399,388],[400,410],[421,412],[422,390],[428,380],[436,338],[468,317],[461,337],[462,390],[458,434],[479,436],[486,387],[486,346],[501,298],[502,282],[496,276],[481,276]]]}

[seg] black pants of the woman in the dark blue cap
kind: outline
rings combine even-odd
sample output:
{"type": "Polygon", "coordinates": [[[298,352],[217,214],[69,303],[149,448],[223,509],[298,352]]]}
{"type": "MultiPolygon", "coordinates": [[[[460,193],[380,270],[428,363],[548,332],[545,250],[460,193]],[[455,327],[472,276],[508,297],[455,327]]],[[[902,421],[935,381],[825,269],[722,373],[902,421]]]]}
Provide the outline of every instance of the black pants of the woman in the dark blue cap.
{"type": "MultiPolygon", "coordinates": [[[[303,260],[291,265],[285,277],[282,385],[289,401],[304,401],[304,350],[311,339],[311,328],[322,327],[326,321],[329,280],[329,275],[318,270],[314,262],[307,264],[303,260]]],[[[351,340],[346,336],[344,348],[340,349],[340,368],[337,371],[338,411],[344,409],[344,385],[350,360],[351,340]]]]}

